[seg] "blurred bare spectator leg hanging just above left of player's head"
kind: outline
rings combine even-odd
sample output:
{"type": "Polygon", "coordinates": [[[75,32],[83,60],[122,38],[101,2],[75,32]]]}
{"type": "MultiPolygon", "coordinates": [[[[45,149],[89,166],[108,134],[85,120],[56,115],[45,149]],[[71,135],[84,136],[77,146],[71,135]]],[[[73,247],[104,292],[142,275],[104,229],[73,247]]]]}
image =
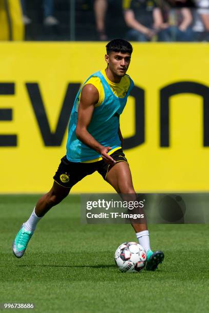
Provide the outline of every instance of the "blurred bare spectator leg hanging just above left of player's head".
{"type": "Polygon", "coordinates": [[[108,0],[95,0],[94,13],[96,19],[96,29],[100,40],[107,40],[105,29],[105,17],[108,8],[108,0]]]}

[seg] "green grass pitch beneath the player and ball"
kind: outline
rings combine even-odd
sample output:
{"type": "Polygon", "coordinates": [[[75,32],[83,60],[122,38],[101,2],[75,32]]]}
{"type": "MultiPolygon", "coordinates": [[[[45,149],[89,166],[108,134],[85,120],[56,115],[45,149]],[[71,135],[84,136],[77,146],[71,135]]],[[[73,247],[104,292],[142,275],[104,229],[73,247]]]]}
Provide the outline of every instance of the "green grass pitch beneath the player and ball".
{"type": "Polygon", "coordinates": [[[81,225],[79,196],[72,195],[39,222],[17,259],[12,241],[37,199],[0,196],[1,303],[33,302],[39,312],[208,312],[209,225],[150,225],[163,264],[156,272],[122,274],[114,252],[136,241],[132,227],[81,225]]]}

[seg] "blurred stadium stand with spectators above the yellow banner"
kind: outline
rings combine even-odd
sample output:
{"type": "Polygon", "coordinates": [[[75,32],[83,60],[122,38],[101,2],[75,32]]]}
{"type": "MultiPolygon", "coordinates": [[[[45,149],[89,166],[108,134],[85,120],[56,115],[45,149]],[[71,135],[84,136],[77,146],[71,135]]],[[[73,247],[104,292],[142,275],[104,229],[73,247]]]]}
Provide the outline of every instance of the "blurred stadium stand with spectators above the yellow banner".
{"type": "Polygon", "coordinates": [[[0,20],[0,40],[209,41],[209,0],[0,0],[0,20]]]}

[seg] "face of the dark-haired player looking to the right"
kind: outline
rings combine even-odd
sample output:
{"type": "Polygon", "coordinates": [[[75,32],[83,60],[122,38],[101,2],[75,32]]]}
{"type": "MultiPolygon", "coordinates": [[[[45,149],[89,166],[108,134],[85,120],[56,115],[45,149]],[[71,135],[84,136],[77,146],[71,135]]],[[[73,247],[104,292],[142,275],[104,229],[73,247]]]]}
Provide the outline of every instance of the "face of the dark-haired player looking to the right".
{"type": "Polygon", "coordinates": [[[105,56],[109,69],[117,76],[124,76],[131,62],[130,53],[111,52],[105,56]]]}

